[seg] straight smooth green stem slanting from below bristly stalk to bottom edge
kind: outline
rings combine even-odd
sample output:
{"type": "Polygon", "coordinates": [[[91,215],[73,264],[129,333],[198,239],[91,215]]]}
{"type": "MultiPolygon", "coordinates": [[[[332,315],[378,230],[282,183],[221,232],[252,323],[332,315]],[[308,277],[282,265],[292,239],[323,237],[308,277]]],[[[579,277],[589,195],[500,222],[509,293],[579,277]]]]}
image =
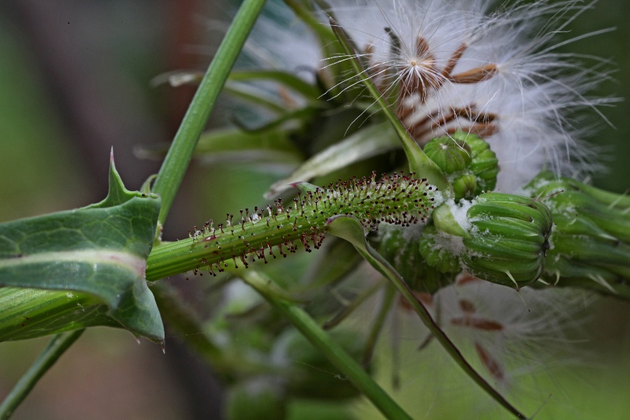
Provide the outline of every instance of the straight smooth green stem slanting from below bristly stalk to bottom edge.
{"type": "Polygon", "coordinates": [[[309,342],[316,346],[316,348],[330,360],[330,363],[339,369],[339,372],[342,372],[342,374],[348,377],[354,386],[356,386],[363,395],[369,398],[387,419],[411,419],[409,414],[400,408],[400,406],[374,382],[374,379],[372,379],[339,344],[333,341],[330,336],[321,329],[306,311],[290,302],[278,299],[275,293],[270,292],[269,286],[273,284],[271,279],[263,276],[260,272],[255,272],[253,269],[241,269],[239,271],[239,277],[258,291],[262,297],[265,297],[276,309],[281,311],[281,313],[295,325],[295,328],[300,330],[302,335],[307,337],[309,342]]]}

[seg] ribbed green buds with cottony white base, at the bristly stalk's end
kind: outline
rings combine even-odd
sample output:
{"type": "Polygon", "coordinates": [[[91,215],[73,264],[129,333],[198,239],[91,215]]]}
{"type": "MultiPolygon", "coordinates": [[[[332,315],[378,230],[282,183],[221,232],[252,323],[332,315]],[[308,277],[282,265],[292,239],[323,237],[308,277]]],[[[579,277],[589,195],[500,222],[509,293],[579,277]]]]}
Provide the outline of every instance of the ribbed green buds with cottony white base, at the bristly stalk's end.
{"type": "Polygon", "coordinates": [[[471,202],[447,202],[435,209],[419,249],[441,272],[468,269],[480,279],[517,289],[545,269],[552,217],[527,197],[485,193],[471,202]]]}

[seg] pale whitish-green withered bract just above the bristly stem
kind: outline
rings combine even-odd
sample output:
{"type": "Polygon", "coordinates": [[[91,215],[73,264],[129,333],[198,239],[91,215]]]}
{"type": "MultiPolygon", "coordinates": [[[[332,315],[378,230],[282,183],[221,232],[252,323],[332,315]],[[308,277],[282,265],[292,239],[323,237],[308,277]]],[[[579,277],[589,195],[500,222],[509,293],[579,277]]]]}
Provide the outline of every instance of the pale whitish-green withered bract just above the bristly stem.
{"type": "Polygon", "coordinates": [[[330,174],[359,160],[371,158],[399,148],[398,138],[390,124],[365,127],[350,137],[333,144],[304,162],[299,168],[274,183],[265,193],[267,200],[276,197],[297,181],[308,181],[316,176],[330,174]]]}

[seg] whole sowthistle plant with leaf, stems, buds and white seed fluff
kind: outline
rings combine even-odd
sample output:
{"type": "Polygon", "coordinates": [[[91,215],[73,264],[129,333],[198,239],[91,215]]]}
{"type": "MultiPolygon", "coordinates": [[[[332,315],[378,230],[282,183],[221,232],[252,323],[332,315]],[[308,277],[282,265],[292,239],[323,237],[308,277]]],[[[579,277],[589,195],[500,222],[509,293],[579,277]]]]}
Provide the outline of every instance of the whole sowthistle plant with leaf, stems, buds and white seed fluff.
{"type": "Polygon", "coordinates": [[[387,418],[409,419],[370,375],[384,325],[398,328],[401,317],[426,328],[421,349],[435,340],[498,405],[526,418],[503,395],[517,382],[510,356],[538,364],[542,342],[563,337],[576,312],[572,289],[630,297],[630,201],[563,177],[596,169],[580,143],[590,134],[580,111],[602,115],[615,100],[587,97],[608,78],[603,61],[587,67],[556,52],[582,38],[554,40],[592,3],[288,0],[282,13],[309,34],[278,49],[290,31],[269,20],[259,25],[271,38],[262,31],[245,44],[262,4],[244,1],[203,77],[171,77],[200,87],[155,182],[127,191],[112,160],[103,202],[0,225],[0,337],[56,334],[3,418],[83,328],[126,328],[163,345],[164,318],[202,332],[190,345],[228,386],[229,419],[285,419],[298,398],[360,394],[387,418]],[[228,75],[244,45],[287,67],[228,75]],[[300,50],[326,64],[291,68],[287,51],[300,50]],[[253,128],[236,116],[239,127],[202,135],[226,80],[248,112],[275,117],[253,128]],[[272,94],[251,94],[262,91],[272,94]],[[269,188],[273,204],[163,242],[190,159],[231,148],[254,162],[307,158],[269,188]],[[384,153],[393,159],[370,160],[384,153]],[[348,167],[365,172],[348,179],[348,167]],[[42,224],[54,235],[36,230],[42,224]],[[323,255],[300,257],[310,274],[294,267],[287,282],[281,264],[265,266],[300,248],[323,255]],[[218,285],[223,302],[205,326],[169,287],[147,287],[180,273],[211,274],[218,285]],[[239,279],[258,297],[249,302],[239,279]],[[374,322],[357,328],[348,320],[366,307],[374,322]],[[252,308],[245,328],[222,316],[252,308]]]}

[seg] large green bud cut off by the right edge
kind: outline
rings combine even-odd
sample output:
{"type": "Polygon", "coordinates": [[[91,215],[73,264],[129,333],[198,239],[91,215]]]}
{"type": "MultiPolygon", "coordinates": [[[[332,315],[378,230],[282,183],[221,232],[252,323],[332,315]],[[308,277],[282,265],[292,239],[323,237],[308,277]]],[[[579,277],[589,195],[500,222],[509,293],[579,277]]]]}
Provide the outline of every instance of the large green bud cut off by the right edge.
{"type": "Polygon", "coordinates": [[[543,172],[528,184],[547,195],[554,233],[547,280],[630,298],[630,197],[543,172]]]}

